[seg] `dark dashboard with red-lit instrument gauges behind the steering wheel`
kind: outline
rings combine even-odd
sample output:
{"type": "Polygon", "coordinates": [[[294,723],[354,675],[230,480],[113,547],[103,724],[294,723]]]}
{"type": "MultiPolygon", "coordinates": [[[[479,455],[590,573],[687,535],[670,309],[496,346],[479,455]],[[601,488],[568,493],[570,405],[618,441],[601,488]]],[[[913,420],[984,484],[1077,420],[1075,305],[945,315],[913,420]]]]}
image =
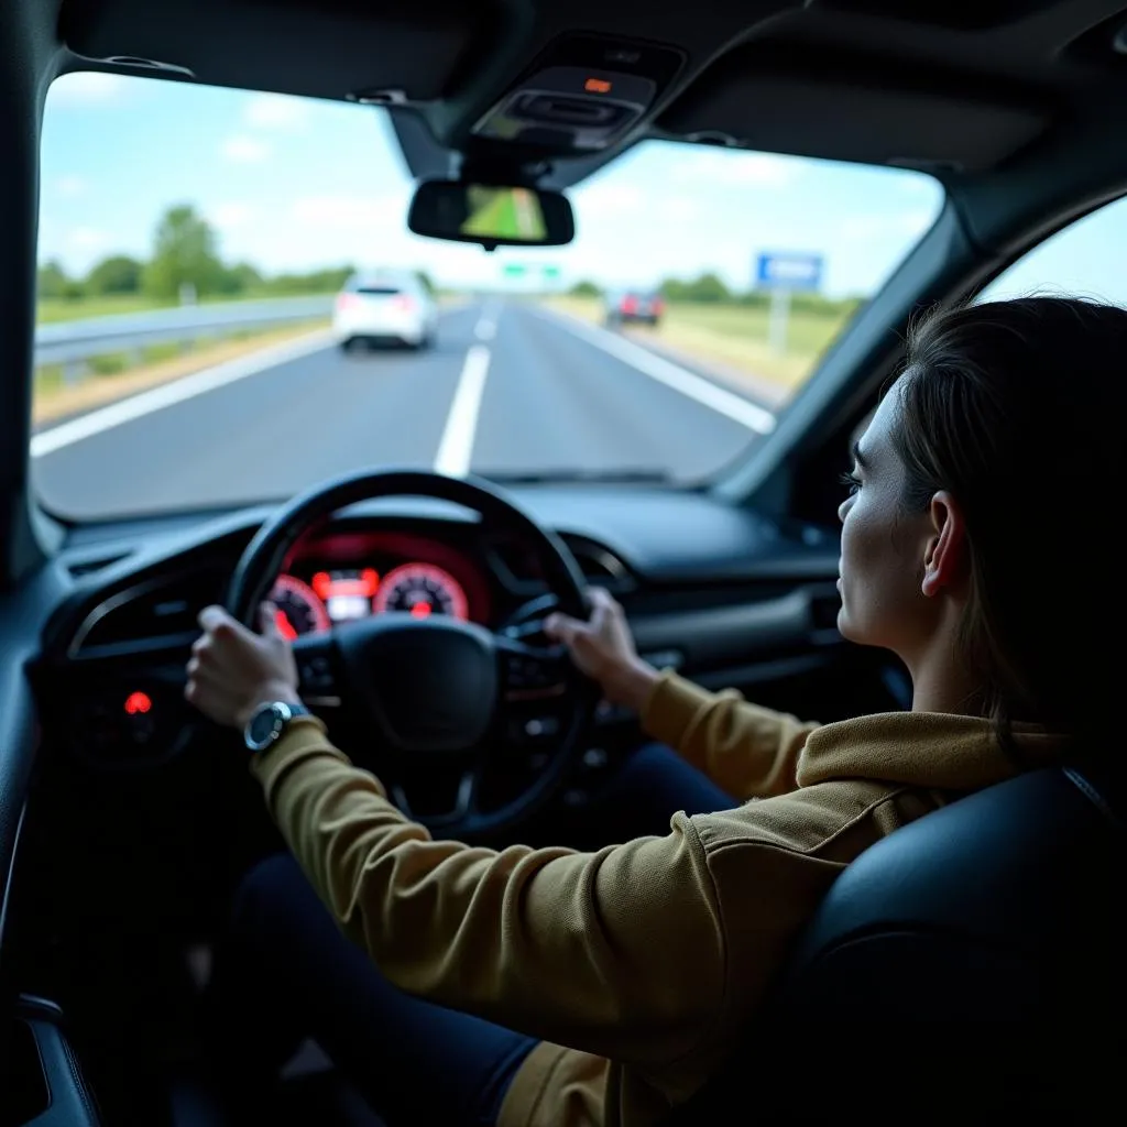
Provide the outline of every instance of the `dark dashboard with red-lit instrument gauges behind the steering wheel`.
{"type": "MultiPolygon", "coordinates": [[[[567,545],[588,583],[622,602],[647,659],[760,699],[779,686],[764,703],[784,710],[805,711],[817,695],[819,719],[857,707],[852,678],[832,672],[841,655],[834,530],[790,527],[668,490],[530,490],[517,499],[567,545]]],[[[44,738],[76,770],[183,762],[184,666],[199,611],[225,601],[269,513],[74,530],[56,571],[69,592],[46,624],[33,681],[42,701],[55,702],[42,713],[44,738]]],[[[530,545],[508,531],[446,503],[384,498],[308,531],[283,560],[272,597],[279,630],[299,638],[392,613],[520,630],[542,613],[545,593],[530,545]]],[[[613,710],[598,722],[592,761],[604,761],[614,739],[623,747],[637,739],[629,725],[612,737],[622,722],[613,710]]]]}

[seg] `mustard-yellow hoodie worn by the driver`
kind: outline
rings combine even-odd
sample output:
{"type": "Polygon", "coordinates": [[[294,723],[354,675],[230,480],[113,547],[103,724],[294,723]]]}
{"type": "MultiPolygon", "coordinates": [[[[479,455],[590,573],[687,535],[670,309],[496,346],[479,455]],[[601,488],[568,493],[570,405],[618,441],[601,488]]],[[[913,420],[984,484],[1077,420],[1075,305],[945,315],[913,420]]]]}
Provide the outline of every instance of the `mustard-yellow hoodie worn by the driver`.
{"type": "MultiPolygon", "coordinates": [[[[737,1044],[796,933],[869,845],[1013,774],[980,719],[801,724],[665,674],[642,725],[744,805],[595,853],[433,841],[295,721],[252,763],[345,932],[402,990],[542,1039],[500,1127],[649,1127],[737,1044]]],[[[1035,758],[1059,740],[1019,737],[1035,758]]]]}

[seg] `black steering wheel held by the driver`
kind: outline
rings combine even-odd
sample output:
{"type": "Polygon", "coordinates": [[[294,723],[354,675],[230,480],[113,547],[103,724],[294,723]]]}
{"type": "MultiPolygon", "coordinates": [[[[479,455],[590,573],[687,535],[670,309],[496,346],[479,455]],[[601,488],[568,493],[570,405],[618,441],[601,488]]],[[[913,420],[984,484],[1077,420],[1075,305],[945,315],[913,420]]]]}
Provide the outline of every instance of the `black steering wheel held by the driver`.
{"type": "MultiPolygon", "coordinates": [[[[391,496],[453,502],[521,536],[558,609],[586,616],[583,573],[557,535],[486,481],[415,470],[348,474],[282,506],[243,551],[228,611],[255,629],[259,604],[307,530],[357,502],[391,496]]],[[[566,649],[526,640],[535,637],[534,625],[494,633],[449,615],[375,614],[295,639],[299,690],[314,710],[331,706],[349,715],[357,744],[380,751],[378,774],[406,815],[445,836],[492,834],[557,792],[597,700],[566,649]],[[509,751],[513,735],[526,733],[554,733],[531,777],[527,755],[517,770],[509,751]],[[412,788],[427,792],[419,809],[412,788]]]]}

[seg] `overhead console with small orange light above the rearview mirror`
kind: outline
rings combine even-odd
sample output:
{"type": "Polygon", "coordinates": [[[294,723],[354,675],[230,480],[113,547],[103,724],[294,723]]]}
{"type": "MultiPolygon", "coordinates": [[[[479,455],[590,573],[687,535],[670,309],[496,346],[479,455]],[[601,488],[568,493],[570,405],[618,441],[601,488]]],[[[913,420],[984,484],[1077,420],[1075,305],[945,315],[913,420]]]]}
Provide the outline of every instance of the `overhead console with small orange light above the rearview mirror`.
{"type": "Polygon", "coordinates": [[[556,156],[598,152],[646,116],[684,65],[656,44],[596,35],[556,39],[473,125],[482,141],[556,156]]]}

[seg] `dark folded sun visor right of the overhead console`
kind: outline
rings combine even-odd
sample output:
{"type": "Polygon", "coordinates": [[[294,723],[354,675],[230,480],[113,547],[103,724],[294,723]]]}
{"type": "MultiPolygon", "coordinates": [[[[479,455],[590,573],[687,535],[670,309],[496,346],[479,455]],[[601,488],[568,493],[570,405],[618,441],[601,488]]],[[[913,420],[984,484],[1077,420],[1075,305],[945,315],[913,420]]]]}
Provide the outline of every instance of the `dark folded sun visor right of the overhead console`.
{"type": "MultiPolygon", "coordinates": [[[[721,64],[722,65],[722,64],[721,64]]],[[[1051,123],[1041,107],[942,87],[819,72],[706,72],[658,122],[691,141],[765,152],[898,165],[928,171],[980,171],[1001,165],[1051,123]]]]}

